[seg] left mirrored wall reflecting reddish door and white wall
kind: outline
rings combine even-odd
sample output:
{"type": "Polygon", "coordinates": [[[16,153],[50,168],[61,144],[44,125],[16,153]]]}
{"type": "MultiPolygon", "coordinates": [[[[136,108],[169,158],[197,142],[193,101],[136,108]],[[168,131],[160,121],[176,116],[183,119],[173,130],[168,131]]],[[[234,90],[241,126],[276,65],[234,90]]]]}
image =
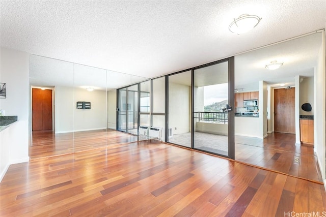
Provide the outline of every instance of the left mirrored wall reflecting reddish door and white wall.
{"type": "MultiPolygon", "coordinates": [[[[121,107],[130,106],[132,112],[118,114],[132,120],[128,126],[120,126],[122,130],[128,127],[127,133],[116,131],[117,88],[146,82],[148,78],[30,55],[29,79],[31,159],[139,139],[134,131],[138,128],[138,84],[128,88],[131,103],[121,107]]],[[[146,100],[142,101],[146,104],[146,100]]],[[[145,116],[141,118],[146,121],[145,116]]]]}

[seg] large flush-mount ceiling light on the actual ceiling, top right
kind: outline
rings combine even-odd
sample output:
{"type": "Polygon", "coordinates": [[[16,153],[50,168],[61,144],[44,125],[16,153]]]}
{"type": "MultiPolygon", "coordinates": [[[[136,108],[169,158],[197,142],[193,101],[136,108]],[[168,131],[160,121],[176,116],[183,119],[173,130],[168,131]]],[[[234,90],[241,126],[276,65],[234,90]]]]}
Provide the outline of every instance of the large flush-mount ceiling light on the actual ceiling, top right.
{"type": "Polygon", "coordinates": [[[229,30],[232,33],[241,34],[246,33],[250,29],[254,28],[261,18],[256,15],[242,14],[238,18],[233,19],[229,25],[229,30]]]}

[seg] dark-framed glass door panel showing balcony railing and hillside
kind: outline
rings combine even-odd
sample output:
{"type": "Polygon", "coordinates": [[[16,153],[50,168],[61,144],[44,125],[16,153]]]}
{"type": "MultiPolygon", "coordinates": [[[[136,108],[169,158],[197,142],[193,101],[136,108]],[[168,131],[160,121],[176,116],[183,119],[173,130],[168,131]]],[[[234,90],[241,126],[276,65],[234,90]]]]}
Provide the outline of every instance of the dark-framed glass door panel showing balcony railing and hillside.
{"type": "Polygon", "coordinates": [[[228,60],[194,70],[193,147],[234,158],[230,80],[228,60]]]}

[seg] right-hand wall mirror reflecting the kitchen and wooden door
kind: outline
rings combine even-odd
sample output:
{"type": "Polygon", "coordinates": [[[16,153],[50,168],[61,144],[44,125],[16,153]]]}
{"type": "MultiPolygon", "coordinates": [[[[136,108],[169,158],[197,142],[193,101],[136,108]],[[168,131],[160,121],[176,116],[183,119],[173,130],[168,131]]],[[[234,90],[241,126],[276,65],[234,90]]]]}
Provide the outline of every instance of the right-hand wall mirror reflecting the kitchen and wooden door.
{"type": "Polygon", "coordinates": [[[313,139],[321,45],[314,33],[235,56],[235,160],[322,181],[313,139]]]}

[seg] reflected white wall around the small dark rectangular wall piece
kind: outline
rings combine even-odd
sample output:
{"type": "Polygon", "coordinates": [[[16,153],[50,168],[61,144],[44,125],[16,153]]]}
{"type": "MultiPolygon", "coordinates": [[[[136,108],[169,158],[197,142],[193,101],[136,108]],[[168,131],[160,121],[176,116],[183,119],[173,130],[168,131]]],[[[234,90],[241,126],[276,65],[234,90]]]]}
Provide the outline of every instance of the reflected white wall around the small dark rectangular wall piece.
{"type": "Polygon", "coordinates": [[[106,129],[106,91],[56,86],[56,133],[106,129]],[[77,109],[76,102],[91,102],[91,109],[77,109]]]}

